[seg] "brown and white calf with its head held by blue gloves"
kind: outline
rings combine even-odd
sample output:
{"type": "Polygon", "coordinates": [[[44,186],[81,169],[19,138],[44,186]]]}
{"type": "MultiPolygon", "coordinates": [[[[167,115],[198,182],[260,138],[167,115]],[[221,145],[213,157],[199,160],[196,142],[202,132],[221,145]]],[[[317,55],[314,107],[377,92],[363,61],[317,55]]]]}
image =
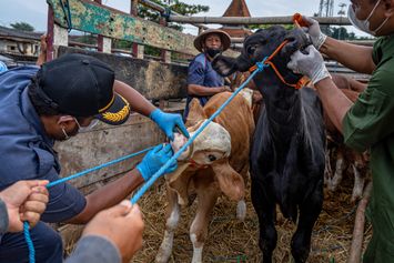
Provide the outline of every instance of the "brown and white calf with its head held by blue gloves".
{"type": "MultiPolygon", "coordinates": [[[[230,95],[230,92],[215,94],[204,108],[195,99],[191,102],[186,121],[191,135],[230,95]]],[[[208,236],[211,212],[222,193],[238,202],[238,218],[244,219],[244,179],[249,172],[253,130],[251,107],[242,95],[236,95],[180,156],[179,169],[165,175],[169,205],[164,237],[156,262],[169,261],[174,231],[180,220],[180,206],[190,205],[193,196],[198,200],[196,214],[190,226],[193,263],[202,262],[202,249],[208,236]]],[[[184,142],[182,135],[175,136],[174,151],[184,142]]]]}

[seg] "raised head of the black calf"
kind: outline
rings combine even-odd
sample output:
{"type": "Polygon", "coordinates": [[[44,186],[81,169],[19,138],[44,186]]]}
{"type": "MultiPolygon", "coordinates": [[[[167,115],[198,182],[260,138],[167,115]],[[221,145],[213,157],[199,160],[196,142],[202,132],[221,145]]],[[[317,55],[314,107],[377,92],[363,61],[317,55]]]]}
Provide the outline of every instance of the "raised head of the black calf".
{"type": "MultiPolygon", "coordinates": [[[[212,62],[213,68],[222,75],[230,75],[235,71],[247,71],[256,62],[270,57],[285,40],[287,40],[287,43],[271,61],[287,83],[296,83],[302,75],[295,74],[287,69],[290,55],[294,51],[303,50],[312,43],[310,37],[301,29],[286,30],[283,27],[275,26],[257,30],[245,39],[241,54],[238,58],[218,55],[212,62]]],[[[273,69],[265,69],[262,73],[256,74],[254,82],[259,89],[283,84],[273,69]]],[[[265,90],[263,92],[265,93],[265,90]]]]}

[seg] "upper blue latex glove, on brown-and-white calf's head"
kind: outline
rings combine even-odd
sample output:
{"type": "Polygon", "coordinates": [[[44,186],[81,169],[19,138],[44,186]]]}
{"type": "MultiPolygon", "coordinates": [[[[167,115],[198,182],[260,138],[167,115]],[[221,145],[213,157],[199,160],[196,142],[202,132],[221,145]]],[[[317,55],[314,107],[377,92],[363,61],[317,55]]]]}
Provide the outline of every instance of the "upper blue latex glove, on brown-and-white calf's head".
{"type": "Polygon", "coordinates": [[[174,131],[176,131],[176,128],[183,133],[183,135],[186,138],[190,136],[181,114],[165,113],[160,109],[155,109],[149,118],[160,127],[171,141],[174,140],[174,131]]]}

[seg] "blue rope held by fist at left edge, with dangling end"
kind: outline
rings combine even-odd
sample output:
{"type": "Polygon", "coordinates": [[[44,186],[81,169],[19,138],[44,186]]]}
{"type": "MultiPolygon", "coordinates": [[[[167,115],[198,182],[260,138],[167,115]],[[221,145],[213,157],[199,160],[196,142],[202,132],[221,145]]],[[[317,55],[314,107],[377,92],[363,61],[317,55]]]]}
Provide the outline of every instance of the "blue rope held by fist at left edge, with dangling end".
{"type": "MultiPolygon", "coordinates": [[[[85,175],[85,174],[88,174],[88,173],[90,173],[90,172],[97,171],[97,170],[99,170],[99,169],[103,169],[103,168],[113,165],[113,164],[119,163],[119,162],[122,162],[122,161],[124,161],[124,160],[127,160],[127,159],[137,156],[137,155],[139,155],[139,154],[142,154],[142,153],[144,153],[144,152],[148,152],[148,151],[152,150],[153,148],[154,148],[154,146],[150,146],[150,148],[147,148],[147,149],[144,149],[144,150],[142,150],[142,151],[134,152],[134,153],[132,153],[132,154],[129,154],[129,155],[125,155],[125,156],[115,159],[115,160],[113,160],[113,161],[110,161],[110,162],[100,164],[100,165],[98,165],[98,166],[87,169],[87,170],[84,170],[84,171],[82,171],[82,172],[72,174],[72,175],[70,175],[70,176],[55,180],[55,181],[50,182],[49,184],[47,184],[47,189],[52,188],[52,186],[54,186],[54,185],[58,185],[58,184],[60,184],[60,183],[64,183],[64,182],[67,182],[67,181],[73,180],[73,179],[75,179],[75,178],[83,176],[83,175],[85,175]]],[[[28,249],[29,249],[29,262],[30,262],[30,263],[36,263],[36,250],[34,250],[33,241],[31,240],[31,236],[30,236],[29,223],[28,223],[28,222],[23,222],[23,234],[24,234],[26,243],[28,244],[28,249]]]]}

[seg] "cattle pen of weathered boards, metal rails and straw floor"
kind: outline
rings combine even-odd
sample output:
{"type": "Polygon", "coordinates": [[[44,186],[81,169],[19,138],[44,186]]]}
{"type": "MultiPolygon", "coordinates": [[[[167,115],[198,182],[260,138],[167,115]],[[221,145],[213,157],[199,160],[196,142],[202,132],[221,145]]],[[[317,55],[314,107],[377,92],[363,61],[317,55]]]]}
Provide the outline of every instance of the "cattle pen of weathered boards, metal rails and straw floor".
{"type": "MultiPolygon", "coordinates": [[[[101,0],[47,0],[48,2],[48,50],[51,60],[64,53],[84,53],[109,63],[115,71],[117,79],[132,85],[158,107],[169,112],[182,112],[186,94],[188,60],[198,53],[193,48],[194,37],[173,30],[170,21],[191,23],[200,30],[203,23],[291,23],[290,17],[256,18],[243,21],[238,18],[220,20],[214,18],[185,18],[169,13],[169,9],[148,0],[131,0],[130,13],[114,10],[101,3],[101,0]],[[137,16],[138,4],[144,4],[161,16],[160,24],[143,20],[137,16]],[[232,21],[232,22],[231,22],[232,21]],[[94,44],[70,41],[69,31],[78,30],[93,34],[94,44]],[[114,40],[132,43],[130,50],[112,49],[114,40]],[[145,47],[159,49],[161,57],[144,54],[145,47]]],[[[323,20],[322,20],[323,21],[323,20]]],[[[327,24],[348,24],[346,19],[331,19],[327,24]]],[[[232,39],[232,45],[242,39],[232,39]]],[[[370,44],[370,43],[366,43],[370,44]]],[[[236,50],[226,52],[235,57],[236,50]]],[[[334,63],[329,63],[333,72],[367,79],[334,63]]],[[[121,158],[132,152],[163,142],[165,136],[148,118],[132,114],[120,127],[99,124],[92,131],[79,134],[67,142],[55,145],[62,165],[61,176],[68,176],[121,158]]],[[[95,173],[71,181],[70,183],[88,194],[108,182],[130,171],[140,158],[128,160],[95,173]]],[[[352,179],[345,176],[335,192],[325,190],[323,212],[312,235],[309,262],[346,262],[353,236],[356,203],[351,202],[352,179]],[[341,208],[341,209],[339,209],[341,208]]],[[[247,185],[250,189],[250,185],[247,185]]],[[[160,179],[139,202],[144,215],[145,231],[142,250],[132,262],[154,262],[155,254],[164,233],[165,225],[165,185],[160,179]]],[[[236,204],[220,198],[210,224],[210,233],[204,246],[203,262],[259,262],[261,252],[257,245],[257,218],[251,204],[247,190],[247,213],[243,222],[235,216],[236,204]]],[[[192,244],[189,237],[189,223],[194,215],[195,204],[182,210],[180,226],[175,232],[174,250],[170,262],[190,262],[192,244]]],[[[275,262],[291,262],[290,240],[295,224],[277,216],[277,246],[275,262]]],[[[62,234],[67,253],[73,249],[82,226],[57,224],[53,227],[62,234]]],[[[363,247],[370,240],[372,230],[366,225],[363,247]]]]}

